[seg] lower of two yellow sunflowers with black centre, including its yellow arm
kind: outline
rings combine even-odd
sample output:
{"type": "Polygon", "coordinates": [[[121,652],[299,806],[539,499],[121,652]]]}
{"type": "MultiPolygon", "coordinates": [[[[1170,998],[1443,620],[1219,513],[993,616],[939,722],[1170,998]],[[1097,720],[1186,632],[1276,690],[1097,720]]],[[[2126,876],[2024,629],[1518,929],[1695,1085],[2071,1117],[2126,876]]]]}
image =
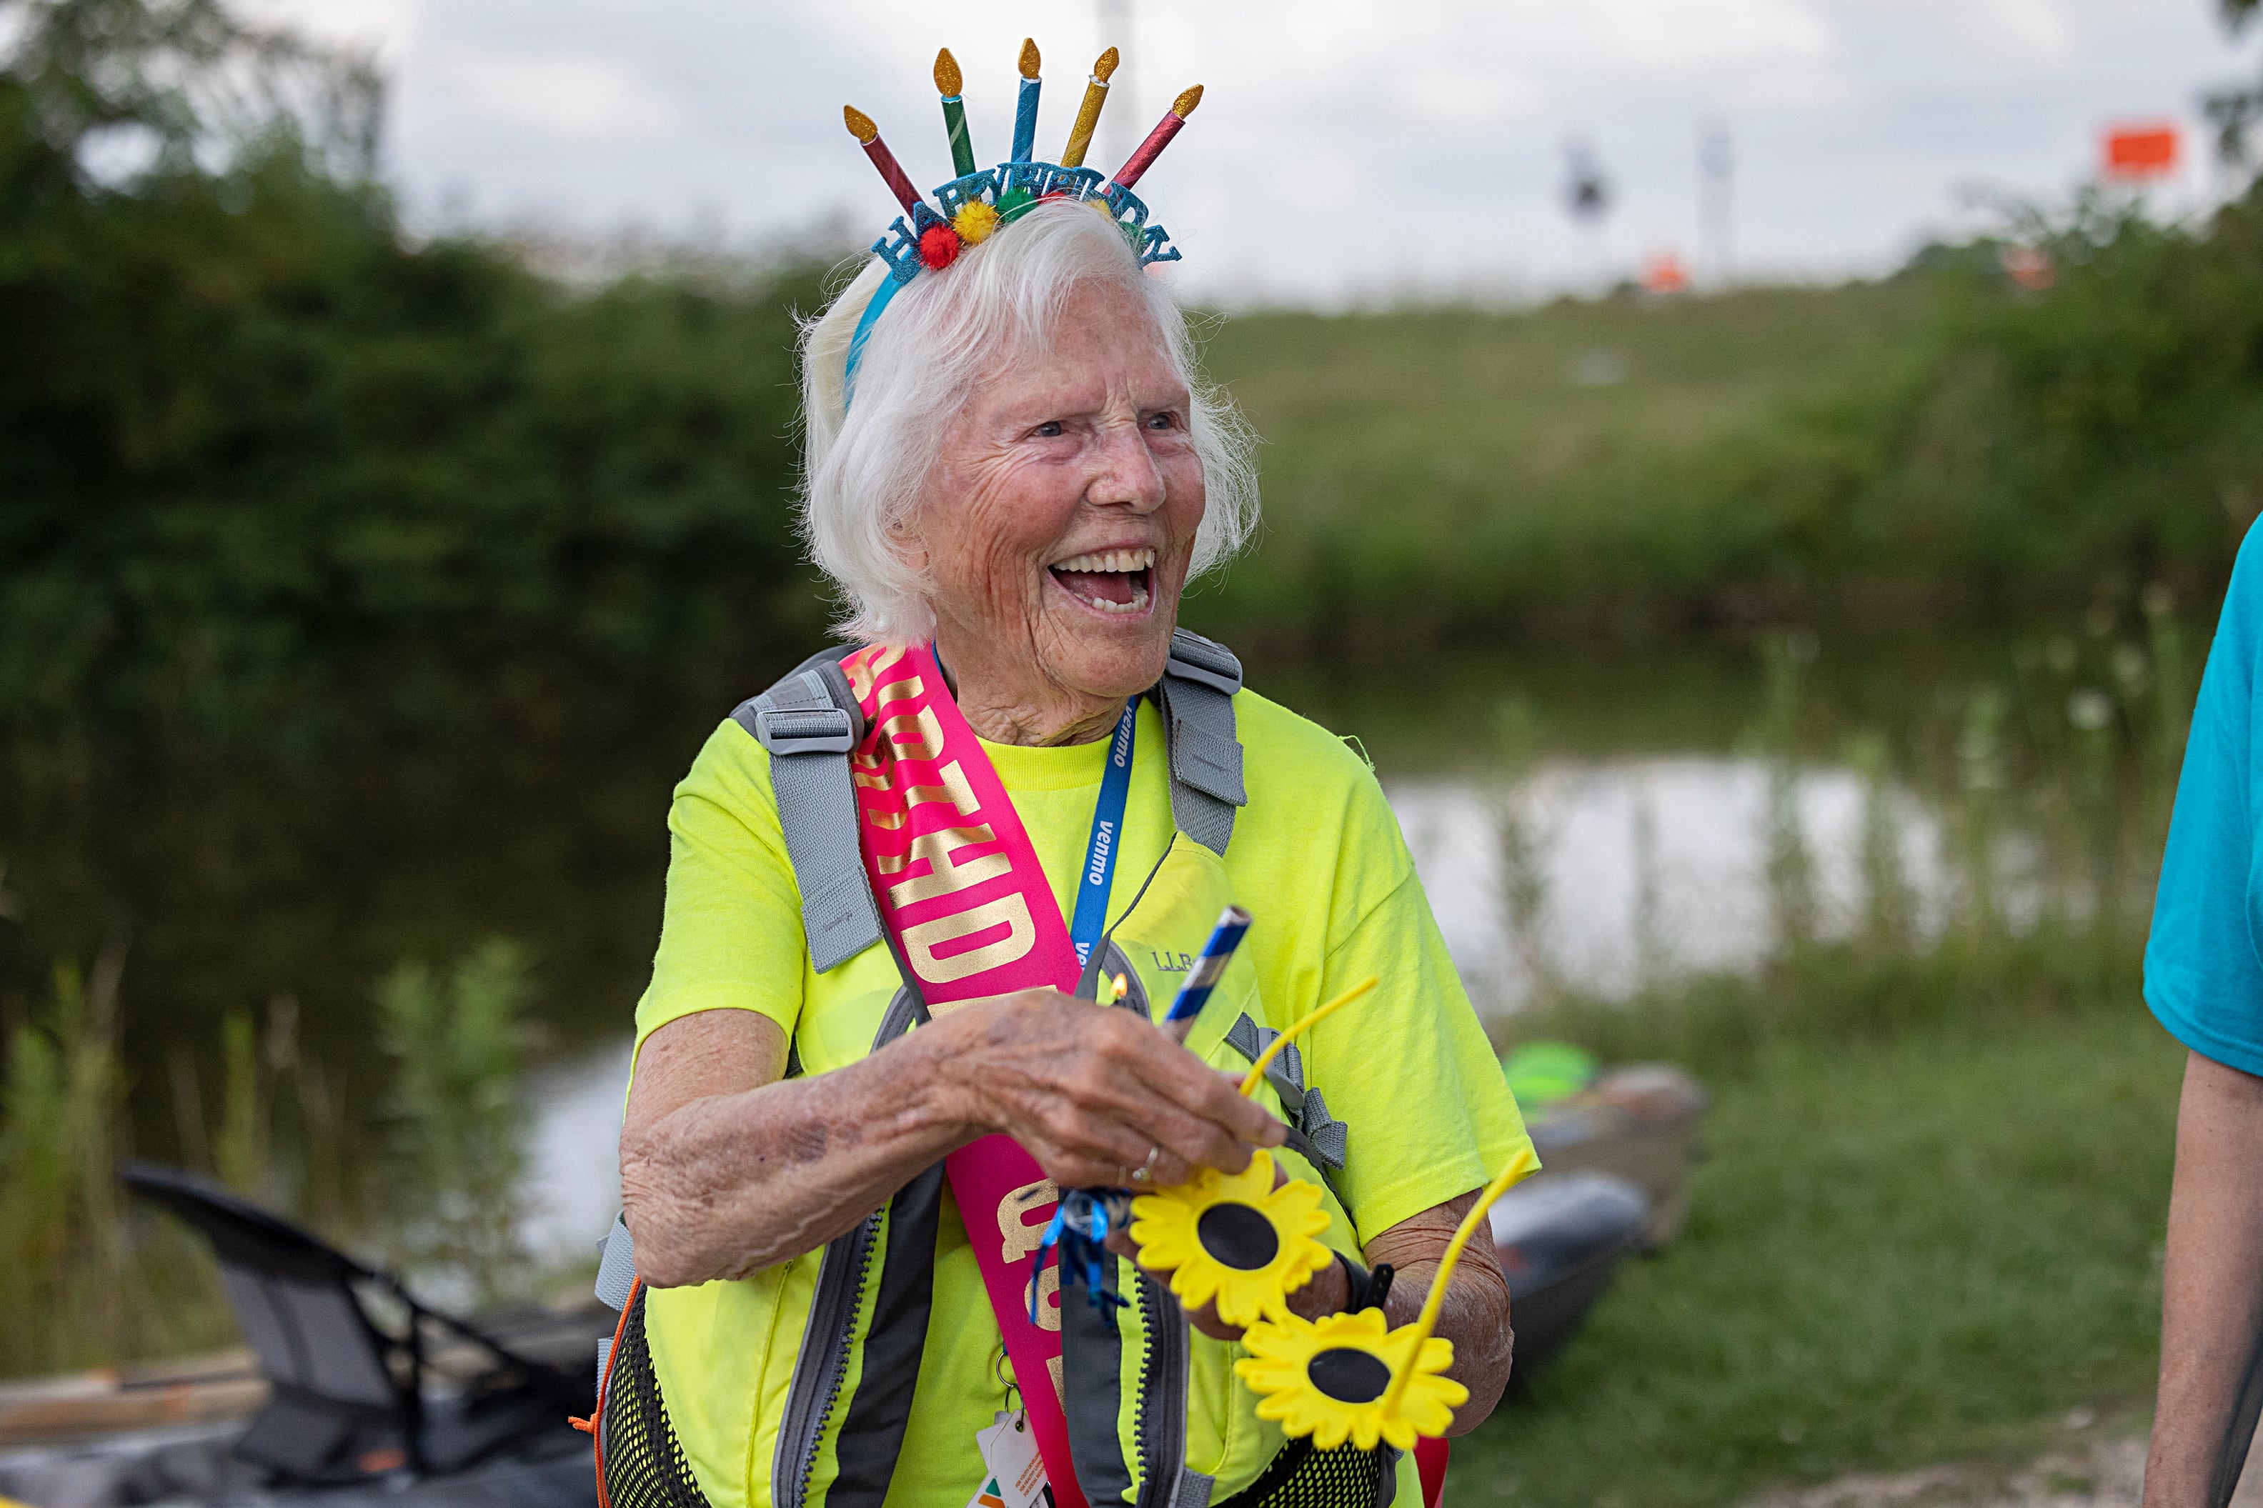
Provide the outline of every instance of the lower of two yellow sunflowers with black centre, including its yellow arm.
{"type": "Polygon", "coordinates": [[[1324,1451],[1346,1440],[1360,1449],[1378,1440],[1414,1449],[1417,1436],[1446,1433],[1453,1411],[1469,1402],[1469,1388],[1444,1375],[1453,1366],[1453,1341],[1430,1334],[1446,1302],[1446,1280],[1485,1212],[1532,1167],[1532,1155],[1523,1153],[1485,1187],[1446,1243],[1430,1298],[1412,1325],[1389,1329],[1380,1309],[1331,1314],[1319,1323],[1290,1314],[1251,1325],[1242,1334],[1249,1359],[1236,1361],[1233,1375],[1258,1395],[1258,1418],[1274,1420],[1292,1440],[1313,1436],[1324,1451]]]}

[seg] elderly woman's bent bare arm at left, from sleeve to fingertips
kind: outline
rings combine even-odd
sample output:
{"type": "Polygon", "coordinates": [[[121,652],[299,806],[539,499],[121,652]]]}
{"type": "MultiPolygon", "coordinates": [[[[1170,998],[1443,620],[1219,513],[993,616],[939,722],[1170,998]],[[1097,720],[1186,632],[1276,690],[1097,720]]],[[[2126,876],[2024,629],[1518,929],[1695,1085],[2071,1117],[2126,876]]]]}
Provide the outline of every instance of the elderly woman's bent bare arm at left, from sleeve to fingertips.
{"type": "Polygon", "coordinates": [[[745,1277],[817,1250],[937,1158],[991,1130],[1059,1187],[1240,1171],[1281,1121],[1127,1011],[1023,990],[941,1015],[831,1074],[781,1078],[785,1033],[702,1011],[645,1038],[620,1133],[636,1271],[745,1277]]]}

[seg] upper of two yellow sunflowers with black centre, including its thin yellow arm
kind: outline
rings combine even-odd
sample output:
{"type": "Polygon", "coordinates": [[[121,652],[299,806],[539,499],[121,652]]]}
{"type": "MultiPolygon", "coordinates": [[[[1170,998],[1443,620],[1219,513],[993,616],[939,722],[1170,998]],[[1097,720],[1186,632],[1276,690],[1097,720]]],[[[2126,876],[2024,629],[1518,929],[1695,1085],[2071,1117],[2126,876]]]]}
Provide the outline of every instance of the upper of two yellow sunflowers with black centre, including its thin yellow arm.
{"type": "MultiPolygon", "coordinates": [[[[1290,1042],[1371,988],[1374,977],[1274,1038],[1249,1065],[1240,1092],[1254,1094],[1265,1083],[1265,1067],[1290,1042]]],[[[1274,1187],[1267,1151],[1251,1153],[1240,1173],[1199,1169],[1177,1187],[1132,1201],[1141,1266],[1170,1273],[1170,1291],[1188,1309],[1215,1302],[1220,1320],[1242,1327],[1288,1316],[1288,1295],[1335,1262],[1335,1253],[1315,1239],[1326,1228],[1319,1187],[1297,1178],[1274,1187]]]]}

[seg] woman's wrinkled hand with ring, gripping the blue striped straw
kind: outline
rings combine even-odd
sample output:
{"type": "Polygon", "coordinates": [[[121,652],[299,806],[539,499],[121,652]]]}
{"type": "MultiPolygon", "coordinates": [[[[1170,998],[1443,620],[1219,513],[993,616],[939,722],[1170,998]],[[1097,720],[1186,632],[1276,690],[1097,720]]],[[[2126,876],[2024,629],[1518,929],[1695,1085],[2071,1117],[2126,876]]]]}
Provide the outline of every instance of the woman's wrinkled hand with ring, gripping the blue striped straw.
{"type": "Polygon", "coordinates": [[[964,1097],[962,1119],[1021,1142],[1064,1189],[1122,1187],[1150,1149],[1159,1185],[1186,1182],[1197,1167],[1238,1173],[1251,1146],[1285,1135],[1236,1094],[1233,1076],[1132,1011],[1018,990],[935,1029],[950,1038],[944,1067],[964,1097]]]}

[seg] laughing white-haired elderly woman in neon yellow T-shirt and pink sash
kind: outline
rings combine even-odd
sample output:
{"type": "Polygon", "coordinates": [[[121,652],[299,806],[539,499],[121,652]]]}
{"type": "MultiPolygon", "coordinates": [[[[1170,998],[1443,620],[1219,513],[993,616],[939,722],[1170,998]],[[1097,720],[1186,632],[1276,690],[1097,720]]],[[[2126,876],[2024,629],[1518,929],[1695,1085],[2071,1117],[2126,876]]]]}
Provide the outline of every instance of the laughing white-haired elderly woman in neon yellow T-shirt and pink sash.
{"type": "MultiPolygon", "coordinates": [[[[1399,1451],[1260,1420],[1211,1307],[1129,1259],[1100,1293],[1032,1266],[1059,1189],[1272,1149],[1340,1255],[1292,1309],[1356,1307],[1387,1264],[1396,1325],[1489,1171],[1530,1158],[1367,764],[1174,638],[1254,522],[1238,421],[1089,203],[1036,203],[860,332],[887,276],[803,339],[808,538],[853,649],[724,721],[670,812],[611,1497],[1412,1508],[1399,1451]],[[1224,902],[1256,922],[1181,1045],[1152,1020],[1224,902]]],[[[1491,1262],[1453,1273],[1439,1334],[1460,1433],[1509,1372],[1491,1262]]]]}

